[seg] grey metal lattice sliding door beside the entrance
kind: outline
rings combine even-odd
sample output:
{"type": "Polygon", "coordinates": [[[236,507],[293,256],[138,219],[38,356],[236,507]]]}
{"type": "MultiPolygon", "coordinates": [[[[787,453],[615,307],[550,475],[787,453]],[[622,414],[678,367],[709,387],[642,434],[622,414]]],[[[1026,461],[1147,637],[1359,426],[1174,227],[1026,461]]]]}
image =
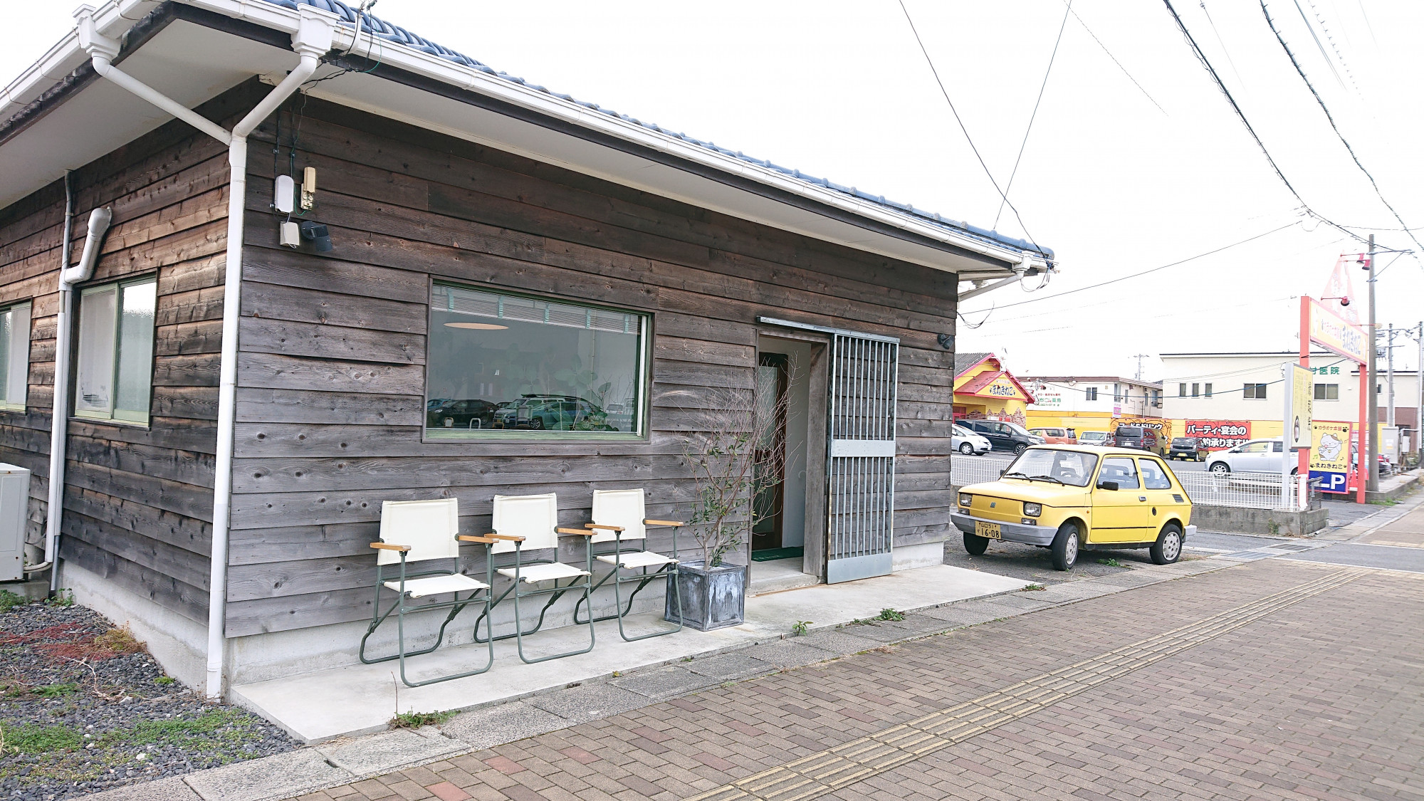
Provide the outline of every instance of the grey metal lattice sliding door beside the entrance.
{"type": "Polygon", "coordinates": [[[826,470],[826,582],[832,584],[890,573],[899,356],[899,339],[832,336],[826,470]]]}

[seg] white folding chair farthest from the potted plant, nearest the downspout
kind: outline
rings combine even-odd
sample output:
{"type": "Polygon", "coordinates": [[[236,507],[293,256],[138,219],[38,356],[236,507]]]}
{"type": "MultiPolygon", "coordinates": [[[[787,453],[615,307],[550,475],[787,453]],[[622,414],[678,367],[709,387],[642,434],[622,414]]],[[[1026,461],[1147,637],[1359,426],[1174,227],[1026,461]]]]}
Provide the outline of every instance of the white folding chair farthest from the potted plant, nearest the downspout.
{"type": "MultiPolygon", "coordinates": [[[[424,684],[434,684],[436,681],[449,681],[451,678],[477,676],[490,670],[490,666],[494,664],[494,644],[490,643],[490,654],[484,667],[450,676],[440,676],[424,681],[412,681],[406,678],[406,657],[429,654],[430,651],[439,648],[440,643],[444,640],[446,627],[450,626],[450,621],[454,620],[454,617],[460,614],[460,610],[466,606],[480,603],[484,606],[486,614],[483,617],[488,617],[490,584],[494,582],[494,577],[490,573],[488,556],[490,546],[497,540],[490,537],[461,536],[459,517],[460,502],[453,497],[443,497],[437,500],[387,500],[380,506],[380,542],[370,543],[370,547],[376,549],[376,597],[372,601],[370,627],[366,629],[366,636],[360,639],[359,656],[366,664],[399,658],[400,680],[404,681],[407,687],[420,687],[424,684]],[[486,567],[483,582],[457,572],[461,542],[484,544],[486,567]],[[410,566],[419,562],[440,562],[446,564],[412,572],[410,566]],[[386,570],[392,564],[397,563],[400,564],[399,577],[389,580],[386,577],[386,570]],[[451,566],[454,570],[451,570],[451,566]],[[384,613],[380,611],[382,589],[396,593],[394,603],[392,603],[384,613]],[[460,593],[470,594],[461,599],[460,593]],[[451,600],[436,603],[406,603],[407,597],[416,600],[446,594],[454,597],[451,600]],[[477,599],[477,596],[480,597],[477,599]],[[427,611],[434,609],[450,610],[444,623],[440,624],[440,633],[436,637],[434,644],[419,651],[407,651],[406,613],[427,611]],[[396,614],[396,653],[384,657],[366,657],[366,641],[376,633],[376,629],[379,629],[380,624],[390,617],[392,613],[396,614]]],[[[476,623],[476,627],[478,627],[478,621],[476,623]]]]}

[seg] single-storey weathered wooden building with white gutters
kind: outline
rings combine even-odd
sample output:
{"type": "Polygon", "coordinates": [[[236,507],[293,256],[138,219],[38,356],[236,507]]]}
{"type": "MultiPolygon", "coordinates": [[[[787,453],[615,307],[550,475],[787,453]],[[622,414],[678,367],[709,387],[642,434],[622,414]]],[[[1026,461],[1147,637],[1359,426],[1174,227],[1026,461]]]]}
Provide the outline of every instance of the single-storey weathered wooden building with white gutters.
{"type": "Polygon", "coordinates": [[[557,492],[568,524],[609,487],[685,515],[709,393],[778,376],[796,455],[753,547],[799,546],[833,582],[941,560],[957,285],[1051,251],[355,20],[335,0],[118,0],[9,87],[0,315],[28,321],[7,351],[28,371],[0,460],[34,472],[30,537],[57,534],[60,587],[209,691],[355,661],[383,500],[457,497],[468,532],[496,493],[557,492]],[[231,131],[310,53],[339,77],[262,115],[238,202],[242,145],[124,83],[231,131]],[[63,254],[95,208],[112,222],[64,316],[63,254]]]}

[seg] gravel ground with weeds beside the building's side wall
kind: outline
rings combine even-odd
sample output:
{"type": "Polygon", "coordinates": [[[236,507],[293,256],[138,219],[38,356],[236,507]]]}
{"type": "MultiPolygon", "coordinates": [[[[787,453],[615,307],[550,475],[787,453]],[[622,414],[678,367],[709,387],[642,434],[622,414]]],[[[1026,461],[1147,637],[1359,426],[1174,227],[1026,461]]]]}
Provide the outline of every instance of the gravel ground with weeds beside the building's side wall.
{"type": "Polygon", "coordinates": [[[75,798],[298,747],[164,676],[127,629],[17,600],[0,593],[0,798],[75,798]]]}

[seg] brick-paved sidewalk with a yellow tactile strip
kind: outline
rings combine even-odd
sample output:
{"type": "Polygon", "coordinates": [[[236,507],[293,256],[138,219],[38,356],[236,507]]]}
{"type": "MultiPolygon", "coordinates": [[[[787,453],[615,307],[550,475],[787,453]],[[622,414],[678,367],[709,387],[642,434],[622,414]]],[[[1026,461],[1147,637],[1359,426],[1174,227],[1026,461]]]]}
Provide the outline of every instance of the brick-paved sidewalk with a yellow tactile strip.
{"type": "Polygon", "coordinates": [[[302,800],[790,798],[797,791],[778,794],[785,785],[749,792],[732,782],[817,754],[812,763],[824,761],[847,743],[862,753],[860,738],[884,740],[887,728],[1005,693],[1038,693],[1045,704],[1000,715],[993,728],[961,728],[963,741],[897,767],[864,758],[871,767],[844,774],[857,781],[820,797],[1424,798],[1424,687],[1413,656],[1424,640],[1421,589],[1424,580],[1396,573],[1257,562],[789,670],[302,800]],[[1316,594],[1280,594],[1307,583],[1316,594]],[[1163,634],[1179,629],[1198,640],[1163,634]],[[1142,640],[1159,644],[1134,654],[1179,650],[1143,664],[1111,656],[1142,640]],[[1108,666],[1092,674],[1098,684],[1062,698],[1038,691],[1048,687],[1044,674],[1095,657],[1089,667],[1108,666]],[[1031,691],[1012,687],[1035,677],[1031,691]]]}

